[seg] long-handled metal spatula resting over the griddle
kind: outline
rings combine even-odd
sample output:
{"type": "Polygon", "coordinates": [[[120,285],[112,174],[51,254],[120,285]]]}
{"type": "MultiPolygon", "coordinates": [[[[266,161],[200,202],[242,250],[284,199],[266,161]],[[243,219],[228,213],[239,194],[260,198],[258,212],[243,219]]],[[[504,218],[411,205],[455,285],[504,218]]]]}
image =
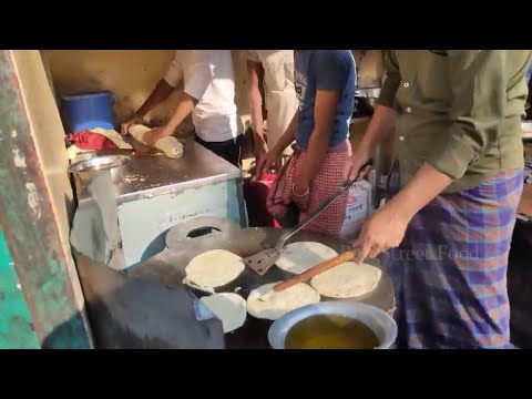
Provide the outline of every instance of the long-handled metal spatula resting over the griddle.
{"type": "Polygon", "coordinates": [[[341,184],[340,190],[338,190],[335,194],[332,194],[327,201],[325,201],[321,205],[319,205],[316,211],[314,211],[306,219],[299,222],[299,224],[288,229],[287,232],[283,233],[283,235],[277,241],[276,245],[273,248],[260,250],[258,254],[253,256],[248,256],[244,258],[244,263],[249,266],[254,272],[263,276],[268,269],[275,265],[277,259],[280,256],[280,249],[285,246],[285,243],[288,238],[294,236],[298,233],[303,227],[308,225],[313,222],[321,212],[327,209],[330,204],[332,204],[341,194],[346,193],[351,186],[357,182],[355,181],[346,181],[341,184]]]}

